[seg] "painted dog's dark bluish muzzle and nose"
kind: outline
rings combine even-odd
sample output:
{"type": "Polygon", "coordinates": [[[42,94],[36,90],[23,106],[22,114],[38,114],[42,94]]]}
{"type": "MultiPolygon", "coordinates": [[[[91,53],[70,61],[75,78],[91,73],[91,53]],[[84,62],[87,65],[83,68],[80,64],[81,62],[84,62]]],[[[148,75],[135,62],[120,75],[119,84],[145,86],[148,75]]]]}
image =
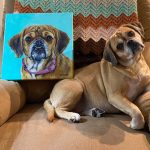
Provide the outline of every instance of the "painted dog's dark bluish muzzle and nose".
{"type": "Polygon", "coordinates": [[[31,57],[35,61],[46,58],[46,47],[43,39],[37,39],[32,43],[31,57]]]}

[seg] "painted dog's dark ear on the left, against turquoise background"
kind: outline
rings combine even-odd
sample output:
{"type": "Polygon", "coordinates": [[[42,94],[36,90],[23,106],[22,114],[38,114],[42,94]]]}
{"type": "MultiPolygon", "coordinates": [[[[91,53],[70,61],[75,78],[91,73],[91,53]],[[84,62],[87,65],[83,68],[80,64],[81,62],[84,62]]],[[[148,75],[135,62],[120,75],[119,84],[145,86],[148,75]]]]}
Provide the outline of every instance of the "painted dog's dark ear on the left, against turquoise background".
{"type": "Polygon", "coordinates": [[[21,34],[13,36],[9,41],[9,46],[15,52],[16,57],[21,57],[23,55],[21,34]]]}

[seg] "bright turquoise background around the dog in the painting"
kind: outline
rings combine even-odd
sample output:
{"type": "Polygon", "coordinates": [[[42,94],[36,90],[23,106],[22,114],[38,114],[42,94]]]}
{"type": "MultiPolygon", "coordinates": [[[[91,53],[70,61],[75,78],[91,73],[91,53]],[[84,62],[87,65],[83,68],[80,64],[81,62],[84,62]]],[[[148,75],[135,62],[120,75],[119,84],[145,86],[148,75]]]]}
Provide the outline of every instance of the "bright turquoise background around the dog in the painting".
{"type": "Polygon", "coordinates": [[[67,33],[70,42],[64,54],[73,59],[73,14],[45,13],[45,14],[7,14],[5,19],[5,37],[2,59],[2,79],[21,80],[22,56],[16,58],[8,45],[8,41],[26,27],[32,25],[51,25],[67,33]]]}

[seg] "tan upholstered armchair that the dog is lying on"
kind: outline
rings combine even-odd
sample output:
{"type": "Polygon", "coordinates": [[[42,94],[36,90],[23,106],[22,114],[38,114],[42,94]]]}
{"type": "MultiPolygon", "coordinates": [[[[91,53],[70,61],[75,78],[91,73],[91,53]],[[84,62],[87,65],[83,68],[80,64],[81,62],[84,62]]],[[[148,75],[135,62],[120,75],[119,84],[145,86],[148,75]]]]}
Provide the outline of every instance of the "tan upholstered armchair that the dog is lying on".
{"type": "MultiPolygon", "coordinates": [[[[5,7],[6,12],[12,12],[13,1],[7,0],[9,5],[5,7]]],[[[145,2],[150,3],[149,0],[139,0],[139,10],[143,10],[144,7],[149,10],[150,5],[142,5],[145,2]]],[[[0,7],[2,7],[1,1],[0,7]]],[[[144,23],[144,18],[147,16],[143,15],[143,12],[144,10],[140,11],[139,15],[144,23]]],[[[147,31],[146,40],[149,41],[150,25],[147,21],[143,25],[147,31]]],[[[147,48],[149,45],[149,42],[146,42],[147,48]]],[[[148,52],[150,51],[146,51],[146,55],[148,52]]],[[[24,106],[25,92],[30,102],[40,102],[48,96],[44,87],[50,84],[52,83],[49,81],[38,83],[29,81],[23,85],[0,81],[0,150],[150,149],[150,134],[146,130],[134,131],[127,127],[130,118],[126,115],[107,115],[99,119],[82,117],[81,123],[78,124],[60,119],[49,123],[42,103],[24,106]],[[30,93],[29,88],[35,89],[34,93],[30,93]],[[42,92],[45,93],[44,96],[40,95],[41,90],[44,91],[42,92]],[[24,108],[21,109],[23,106],[24,108]],[[17,112],[19,109],[21,110],[17,112]],[[12,117],[7,121],[10,116],[12,117]]]]}

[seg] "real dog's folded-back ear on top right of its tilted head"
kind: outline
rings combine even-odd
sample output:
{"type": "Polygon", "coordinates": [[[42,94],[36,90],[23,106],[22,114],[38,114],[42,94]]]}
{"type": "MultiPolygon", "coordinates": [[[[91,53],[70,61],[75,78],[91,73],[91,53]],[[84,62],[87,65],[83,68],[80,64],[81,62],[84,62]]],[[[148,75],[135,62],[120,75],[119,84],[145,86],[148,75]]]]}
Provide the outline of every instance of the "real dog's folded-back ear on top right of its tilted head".
{"type": "Polygon", "coordinates": [[[138,32],[141,35],[141,37],[144,39],[144,28],[140,22],[133,22],[125,26],[138,32]]]}

